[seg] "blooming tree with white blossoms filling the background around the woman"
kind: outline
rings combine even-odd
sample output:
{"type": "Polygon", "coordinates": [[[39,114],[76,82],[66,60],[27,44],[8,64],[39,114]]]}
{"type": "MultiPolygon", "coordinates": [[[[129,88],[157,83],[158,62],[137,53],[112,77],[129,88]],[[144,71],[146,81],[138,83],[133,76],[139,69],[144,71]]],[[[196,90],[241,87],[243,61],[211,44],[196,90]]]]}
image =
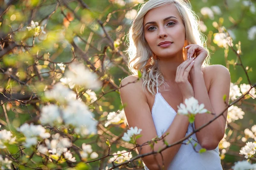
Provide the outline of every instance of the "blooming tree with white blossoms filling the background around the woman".
{"type": "MultiPolygon", "coordinates": [[[[211,62],[223,59],[232,78],[227,130],[219,143],[222,166],[250,170],[256,169],[255,49],[250,46],[256,39],[251,22],[256,8],[253,1],[234,1],[191,5],[215,53],[211,62]],[[238,13],[241,17],[234,17],[238,13]]],[[[126,33],[143,2],[0,1],[0,169],[143,168],[143,155],[135,149],[142,129],[127,126],[119,97],[119,82],[129,74],[126,33]]],[[[178,114],[190,123],[202,113],[221,116],[195,98],[178,105],[178,114]]]]}

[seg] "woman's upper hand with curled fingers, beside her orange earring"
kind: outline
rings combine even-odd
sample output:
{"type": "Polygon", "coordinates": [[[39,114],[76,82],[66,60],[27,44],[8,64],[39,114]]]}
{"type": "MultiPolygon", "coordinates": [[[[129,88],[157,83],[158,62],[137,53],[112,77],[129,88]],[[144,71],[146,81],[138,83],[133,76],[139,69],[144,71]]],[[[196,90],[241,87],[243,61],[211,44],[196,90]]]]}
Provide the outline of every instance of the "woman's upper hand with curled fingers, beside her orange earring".
{"type": "Polygon", "coordinates": [[[204,63],[208,52],[197,44],[189,44],[185,48],[187,48],[188,58],[195,57],[195,64],[192,69],[198,69],[201,71],[201,66],[204,63]]]}

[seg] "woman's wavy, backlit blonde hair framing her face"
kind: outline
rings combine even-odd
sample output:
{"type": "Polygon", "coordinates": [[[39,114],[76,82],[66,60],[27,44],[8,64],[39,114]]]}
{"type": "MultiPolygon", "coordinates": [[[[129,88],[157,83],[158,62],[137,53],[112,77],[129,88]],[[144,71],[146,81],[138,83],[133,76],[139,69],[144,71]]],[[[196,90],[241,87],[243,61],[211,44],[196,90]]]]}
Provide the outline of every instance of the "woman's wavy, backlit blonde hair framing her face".
{"type": "MultiPolygon", "coordinates": [[[[165,82],[162,72],[157,67],[157,61],[153,59],[152,51],[145,40],[143,32],[143,20],[145,14],[149,10],[170,3],[176,6],[180,13],[180,17],[183,20],[186,30],[185,45],[198,44],[207,50],[204,35],[201,33],[200,25],[197,22],[197,16],[183,0],[149,0],[148,2],[144,3],[135,17],[128,33],[128,68],[134,75],[138,75],[138,71],[141,72],[143,79],[143,90],[145,91],[147,88],[148,91],[153,95],[156,94],[154,89],[156,88],[157,80],[160,80],[158,81],[160,82],[159,85],[165,82]]],[[[183,53],[183,57],[184,56],[186,56],[185,53],[183,53]]],[[[209,52],[203,66],[207,66],[208,63],[209,52]]]]}

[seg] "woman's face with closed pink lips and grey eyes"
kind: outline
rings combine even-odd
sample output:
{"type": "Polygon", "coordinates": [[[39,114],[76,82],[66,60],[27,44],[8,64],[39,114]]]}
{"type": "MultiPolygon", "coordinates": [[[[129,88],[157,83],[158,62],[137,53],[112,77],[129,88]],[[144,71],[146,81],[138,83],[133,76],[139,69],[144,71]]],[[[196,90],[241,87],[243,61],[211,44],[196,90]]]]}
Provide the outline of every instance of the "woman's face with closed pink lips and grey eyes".
{"type": "Polygon", "coordinates": [[[145,39],[158,57],[182,54],[185,27],[174,4],[167,4],[148,11],[144,16],[143,27],[145,39]]]}

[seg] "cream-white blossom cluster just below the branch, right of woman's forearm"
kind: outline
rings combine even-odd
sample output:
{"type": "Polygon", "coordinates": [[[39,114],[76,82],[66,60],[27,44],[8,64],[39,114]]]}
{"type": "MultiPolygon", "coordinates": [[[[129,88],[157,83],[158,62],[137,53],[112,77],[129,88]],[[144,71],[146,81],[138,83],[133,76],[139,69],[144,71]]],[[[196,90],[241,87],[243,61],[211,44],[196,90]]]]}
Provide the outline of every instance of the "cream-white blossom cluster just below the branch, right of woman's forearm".
{"type": "Polygon", "coordinates": [[[227,122],[234,122],[235,120],[238,119],[243,119],[244,118],[244,111],[242,111],[241,108],[232,105],[228,108],[228,112],[227,112],[227,122]]]}

